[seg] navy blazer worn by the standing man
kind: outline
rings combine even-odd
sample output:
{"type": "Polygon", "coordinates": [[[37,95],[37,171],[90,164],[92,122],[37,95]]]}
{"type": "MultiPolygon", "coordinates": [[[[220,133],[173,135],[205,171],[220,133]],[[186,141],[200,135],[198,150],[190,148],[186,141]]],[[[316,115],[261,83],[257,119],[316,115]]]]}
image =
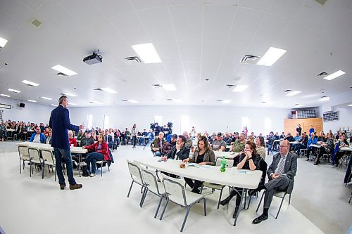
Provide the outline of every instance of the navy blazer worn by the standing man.
{"type": "Polygon", "coordinates": [[[67,108],[63,105],[58,105],[57,108],[51,111],[49,126],[53,129],[51,138],[51,146],[59,149],[70,149],[68,144],[68,129],[79,131],[79,127],[70,124],[70,116],[67,108]]]}

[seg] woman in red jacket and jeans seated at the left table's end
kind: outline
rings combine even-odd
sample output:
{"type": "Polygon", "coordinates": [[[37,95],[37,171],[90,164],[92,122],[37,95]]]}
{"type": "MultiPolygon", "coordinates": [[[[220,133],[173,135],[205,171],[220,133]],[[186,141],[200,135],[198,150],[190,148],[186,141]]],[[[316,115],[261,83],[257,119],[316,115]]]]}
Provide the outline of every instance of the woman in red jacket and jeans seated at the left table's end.
{"type": "Polygon", "coordinates": [[[93,145],[83,146],[82,148],[90,151],[89,154],[87,154],[87,157],[84,162],[87,163],[88,174],[89,168],[91,169],[91,174],[89,176],[94,177],[96,170],[96,161],[111,160],[108,151],[108,144],[105,142],[103,134],[99,134],[98,141],[96,143],[94,143],[93,145]]]}

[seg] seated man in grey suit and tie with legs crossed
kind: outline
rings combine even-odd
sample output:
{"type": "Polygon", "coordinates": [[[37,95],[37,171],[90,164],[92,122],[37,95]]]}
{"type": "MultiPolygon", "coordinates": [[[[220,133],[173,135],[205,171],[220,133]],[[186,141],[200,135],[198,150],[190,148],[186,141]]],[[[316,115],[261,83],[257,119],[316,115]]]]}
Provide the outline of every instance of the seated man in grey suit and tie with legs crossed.
{"type": "Polygon", "coordinates": [[[270,164],[268,168],[267,174],[269,176],[269,182],[258,186],[255,190],[249,191],[249,195],[254,195],[254,193],[265,189],[263,214],[254,219],[253,224],[268,219],[268,210],[276,190],[291,193],[296,171],[297,155],[293,152],[289,152],[289,141],[284,140],[280,143],[279,153],[272,157],[272,164],[270,164]]]}

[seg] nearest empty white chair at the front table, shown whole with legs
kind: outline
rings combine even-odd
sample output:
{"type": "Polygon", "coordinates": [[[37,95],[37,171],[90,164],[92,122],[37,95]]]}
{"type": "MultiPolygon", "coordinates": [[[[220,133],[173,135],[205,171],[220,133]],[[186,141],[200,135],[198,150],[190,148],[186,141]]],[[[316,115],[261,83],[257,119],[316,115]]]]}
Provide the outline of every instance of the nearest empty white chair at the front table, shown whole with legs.
{"type": "Polygon", "coordinates": [[[182,227],[180,232],[182,232],[184,228],[184,224],[187,221],[187,217],[189,214],[189,210],[194,204],[197,204],[201,200],[203,200],[204,204],[204,216],[206,216],[206,198],[205,195],[192,193],[189,190],[186,190],[182,185],[184,181],[179,178],[172,178],[170,176],[163,175],[163,185],[166,193],[166,203],[161,213],[160,220],[163,219],[163,215],[165,213],[165,209],[168,206],[168,202],[174,202],[175,204],[180,205],[182,208],[187,208],[186,216],[184,216],[184,221],[182,223],[182,227]]]}

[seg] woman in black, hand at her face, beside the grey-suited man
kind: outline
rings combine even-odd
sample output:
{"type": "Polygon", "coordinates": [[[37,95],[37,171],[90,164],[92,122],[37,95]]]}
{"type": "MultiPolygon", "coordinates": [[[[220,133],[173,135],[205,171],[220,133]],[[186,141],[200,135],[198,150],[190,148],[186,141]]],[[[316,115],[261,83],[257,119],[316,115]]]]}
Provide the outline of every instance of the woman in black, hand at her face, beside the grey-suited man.
{"type": "MultiPolygon", "coordinates": [[[[256,169],[259,169],[259,163],[260,156],[256,151],[256,143],[254,143],[253,141],[247,141],[244,147],[244,152],[239,157],[239,164],[237,164],[237,169],[249,169],[251,171],[254,171],[256,169]]],[[[220,202],[222,206],[225,206],[225,204],[228,204],[230,202],[232,197],[237,195],[236,207],[234,209],[233,214],[234,218],[236,218],[237,212],[239,211],[242,191],[243,188],[234,188],[234,190],[231,191],[230,195],[220,202]]]]}

